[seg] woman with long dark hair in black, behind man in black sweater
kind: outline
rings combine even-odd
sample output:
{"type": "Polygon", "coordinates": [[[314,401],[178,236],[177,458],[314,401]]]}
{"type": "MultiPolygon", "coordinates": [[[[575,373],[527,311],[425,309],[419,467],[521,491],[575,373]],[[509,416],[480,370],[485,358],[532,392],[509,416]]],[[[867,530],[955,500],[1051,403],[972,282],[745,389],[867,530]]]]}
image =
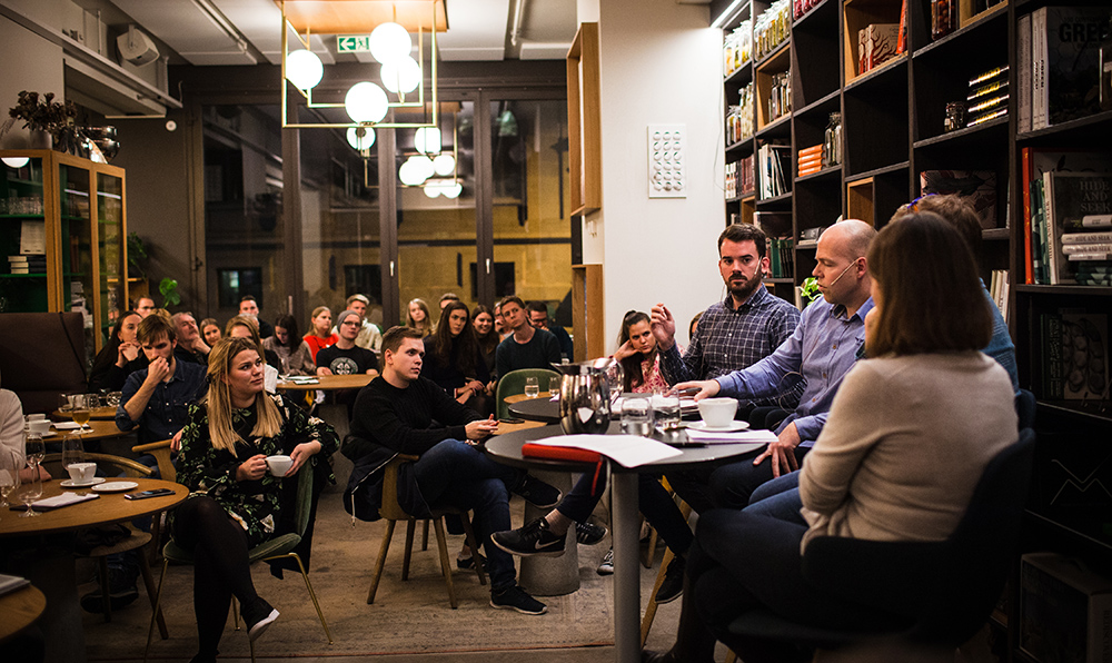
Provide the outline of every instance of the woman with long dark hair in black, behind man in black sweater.
{"type": "Polygon", "coordinates": [[[470,313],[463,301],[457,299],[445,305],[436,333],[423,339],[425,359],[421,375],[460,404],[488,415],[493,412],[486,397],[490,373],[483,360],[469,317],[470,313]]]}

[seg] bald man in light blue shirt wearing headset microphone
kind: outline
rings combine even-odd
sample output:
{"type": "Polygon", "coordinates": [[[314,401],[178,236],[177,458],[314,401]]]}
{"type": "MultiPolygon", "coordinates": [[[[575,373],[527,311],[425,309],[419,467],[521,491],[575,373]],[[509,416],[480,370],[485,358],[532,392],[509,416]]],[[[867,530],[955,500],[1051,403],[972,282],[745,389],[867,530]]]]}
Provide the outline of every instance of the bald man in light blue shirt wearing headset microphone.
{"type": "Polygon", "coordinates": [[[715,395],[758,398],[781,392],[785,379],[798,375],[806,379],[798,407],[768,415],[768,427],[776,432],[777,442],[755,459],[723,465],[712,473],[709,487],[715,505],[745,506],[757,486],[797,471],[818,438],[834,395],[865,344],[864,318],[873,308],[865,256],[875,235],[872,226],[857,220],[827,228],[818,238],[812,273],[823,297],[804,309],[795,333],[772,355],[744,370],[676,385],[681,389],[698,388],[696,400],[715,395]]]}

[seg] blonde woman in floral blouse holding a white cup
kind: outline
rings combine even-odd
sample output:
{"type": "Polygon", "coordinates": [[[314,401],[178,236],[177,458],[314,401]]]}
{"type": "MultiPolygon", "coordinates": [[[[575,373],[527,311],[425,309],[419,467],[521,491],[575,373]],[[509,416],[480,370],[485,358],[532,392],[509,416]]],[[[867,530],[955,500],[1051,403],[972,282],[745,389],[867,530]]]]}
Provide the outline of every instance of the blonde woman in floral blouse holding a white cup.
{"type": "Polygon", "coordinates": [[[294,508],[284,485],[327,464],[337,445],[328,424],[264,392],[264,366],[255,339],[218,343],[208,367],[212,388],[190,407],[181,436],[178,482],[192,494],[175,509],[170,531],[195,558],[197,662],[216,661],[232,596],[252,642],[278,619],[256,592],[248,551],[282,534],[294,508]],[[275,454],[294,461],[285,477],[267,472],[266,457],[275,454]]]}

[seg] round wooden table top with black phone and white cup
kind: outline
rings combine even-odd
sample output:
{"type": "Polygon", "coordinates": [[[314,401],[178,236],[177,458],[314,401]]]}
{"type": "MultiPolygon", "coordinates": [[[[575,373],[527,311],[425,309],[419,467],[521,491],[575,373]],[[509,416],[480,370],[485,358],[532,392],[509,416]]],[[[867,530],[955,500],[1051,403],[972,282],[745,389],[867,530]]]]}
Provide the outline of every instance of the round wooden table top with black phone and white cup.
{"type": "MultiPolygon", "coordinates": [[[[189,496],[189,488],[186,486],[158,478],[119,478],[111,481],[129,481],[139,484],[138,487],[127,491],[127,493],[170,488],[173,491],[173,494],[166,497],[151,497],[149,499],[125,499],[123,495],[126,493],[100,493],[98,499],[46,511],[37,518],[20,518],[18,517],[19,512],[6,511],[3,512],[3,516],[0,517],[0,537],[50,534],[109,523],[123,523],[139,516],[172,508],[189,496]]],[[[53,497],[63,492],[89,492],[88,488],[63,488],[60,484],[61,482],[58,479],[42,484],[42,498],[53,497]]],[[[13,499],[9,499],[9,502],[19,504],[13,499]]],[[[20,505],[20,509],[22,508],[22,505],[20,505]]]]}

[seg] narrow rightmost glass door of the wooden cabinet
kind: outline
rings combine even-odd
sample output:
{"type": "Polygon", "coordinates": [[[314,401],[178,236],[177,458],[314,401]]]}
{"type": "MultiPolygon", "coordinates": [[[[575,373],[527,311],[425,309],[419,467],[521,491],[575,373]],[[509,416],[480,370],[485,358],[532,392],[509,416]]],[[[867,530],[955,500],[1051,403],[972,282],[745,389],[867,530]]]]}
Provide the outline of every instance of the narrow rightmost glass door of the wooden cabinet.
{"type": "Polygon", "coordinates": [[[123,284],[127,265],[123,264],[123,180],[97,174],[97,249],[100,265],[97,284],[99,297],[97,320],[100,338],[111,334],[121,310],[127,306],[123,284]]]}

